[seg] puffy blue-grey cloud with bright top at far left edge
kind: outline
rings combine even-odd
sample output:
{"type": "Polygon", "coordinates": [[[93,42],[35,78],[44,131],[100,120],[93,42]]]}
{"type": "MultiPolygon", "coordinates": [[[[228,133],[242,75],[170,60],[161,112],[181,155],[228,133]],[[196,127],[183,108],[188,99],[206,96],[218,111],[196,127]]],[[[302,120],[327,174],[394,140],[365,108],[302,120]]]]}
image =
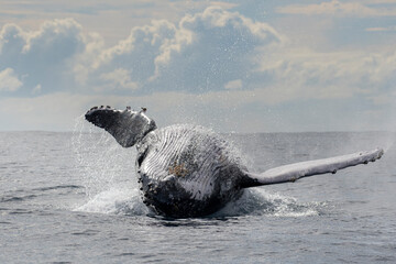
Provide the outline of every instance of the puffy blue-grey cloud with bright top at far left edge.
{"type": "Polygon", "coordinates": [[[12,68],[22,77],[18,96],[30,96],[37,85],[43,92],[69,89],[70,65],[85,46],[81,26],[72,19],[47,21],[37,31],[6,24],[0,32],[0,70],[12,68]]]}

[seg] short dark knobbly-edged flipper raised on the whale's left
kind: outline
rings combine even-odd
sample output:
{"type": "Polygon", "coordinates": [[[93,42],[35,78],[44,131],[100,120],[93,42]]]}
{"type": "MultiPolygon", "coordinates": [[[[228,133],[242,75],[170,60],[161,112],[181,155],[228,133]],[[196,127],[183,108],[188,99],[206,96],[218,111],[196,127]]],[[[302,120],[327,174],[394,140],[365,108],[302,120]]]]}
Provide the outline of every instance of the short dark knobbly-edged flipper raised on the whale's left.
{"type": "Polygon", "coordinates": [[[109,132],[120,145],[129,147],[156,129],[154,120],[147,118],[145,111],[145,108],[141,111],[132,111],[130,108],[122,111],[111,107],[94,107],[85,118],[109,132]]]}

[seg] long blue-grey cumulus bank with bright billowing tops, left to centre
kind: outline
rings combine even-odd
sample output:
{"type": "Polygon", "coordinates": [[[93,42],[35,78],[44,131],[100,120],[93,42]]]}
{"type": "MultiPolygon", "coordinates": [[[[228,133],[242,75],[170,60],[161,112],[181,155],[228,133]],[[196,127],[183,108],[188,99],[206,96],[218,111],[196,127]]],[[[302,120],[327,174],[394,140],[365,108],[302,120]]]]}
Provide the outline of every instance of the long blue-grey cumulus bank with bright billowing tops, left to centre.
{"type": "Polygon", "coordinates": [[[86,33],[73,19],[46,21],[37,31],[6,24],[0,33],[0,70],[12,68],[23,85],[14,96],[56,91],[144,95],[154,91],[221,90],[244,84],[261,46],[283,36],[271,25],[219,7],[134,26],[117,45],[86,33]],[[40,87],[40,89],[37,88],[40,87]]]}

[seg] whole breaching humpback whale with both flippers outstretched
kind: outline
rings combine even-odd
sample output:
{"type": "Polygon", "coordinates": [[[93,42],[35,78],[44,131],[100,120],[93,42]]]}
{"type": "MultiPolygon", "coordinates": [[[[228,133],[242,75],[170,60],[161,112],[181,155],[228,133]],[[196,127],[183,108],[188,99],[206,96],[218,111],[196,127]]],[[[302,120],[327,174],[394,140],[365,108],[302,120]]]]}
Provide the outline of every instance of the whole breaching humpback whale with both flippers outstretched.
{"type": "Polygon", "coordinates": [[[123,147],[136,146],[135,169],[143,202],[172,218],[207,216],[238,199],[245,188],[334,174],[375,162],[384,154],[375,148],[251,173],[224,139],[199,125],[157,129],[145,108],[134,111],[130,107],[94,107],[85,118],[123,147]]]}

